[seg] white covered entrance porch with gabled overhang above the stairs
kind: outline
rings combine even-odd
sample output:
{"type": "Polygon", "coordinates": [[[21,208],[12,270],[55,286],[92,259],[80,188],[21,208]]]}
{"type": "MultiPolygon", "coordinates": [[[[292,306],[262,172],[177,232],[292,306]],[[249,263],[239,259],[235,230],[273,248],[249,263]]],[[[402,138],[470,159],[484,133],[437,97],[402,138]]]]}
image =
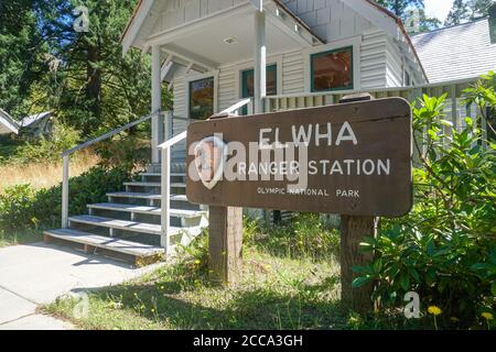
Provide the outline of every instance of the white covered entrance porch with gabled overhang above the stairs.
{"type": "Polygon", "coordinates": [[[279,1],[263,6],[242,1],[148,37],[144,51],[152,56],[152,113],[161,110],[162,89],[176,95],[174,112],[165,114],[164,123],[153,119],[152,163],[160,163],[157,146],[183,132],[192,120],[208,118],[241,98],[252,100],[239,113],[263,112],[267,95],[282,92],[278,84],[282,73],[268,58],[323,43],[279,1]],[[222,68],[231,64],[246,69],[235,85],[220,88],[222,68]],[[180,85],[183,95],[176,94],[180,85]],[[219,89],[230,89],[233,99],[219,101],[219,89]]]}

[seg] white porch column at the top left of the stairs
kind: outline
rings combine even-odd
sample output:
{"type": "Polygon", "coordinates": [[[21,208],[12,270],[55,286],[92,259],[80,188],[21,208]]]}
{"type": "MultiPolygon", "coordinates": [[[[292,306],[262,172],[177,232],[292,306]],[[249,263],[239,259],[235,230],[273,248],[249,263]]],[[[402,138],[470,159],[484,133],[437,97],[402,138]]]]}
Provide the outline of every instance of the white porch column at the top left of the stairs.
{"type": "MultiPolygon", "coordinates": [[[[151,112],[158,112],[162,109],[162,65],[160,45],[152,46],[152,109],[151,112]]],[[[151,121],[152,138],[152,163],[160,163],[160,153],[157,147],[163,141],[162,118],[157,116],[151,121]]]]}

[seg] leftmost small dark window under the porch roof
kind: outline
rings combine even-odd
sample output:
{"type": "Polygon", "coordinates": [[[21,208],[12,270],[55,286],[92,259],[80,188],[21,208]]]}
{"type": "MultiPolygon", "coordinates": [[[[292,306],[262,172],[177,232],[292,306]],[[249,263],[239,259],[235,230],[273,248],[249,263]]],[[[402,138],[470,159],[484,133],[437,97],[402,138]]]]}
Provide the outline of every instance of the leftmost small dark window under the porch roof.
{"type": "Polygon", "coordinates": [[[214,114],[214,77],[190,82],[190,119],[206,120],[214,114]]]}

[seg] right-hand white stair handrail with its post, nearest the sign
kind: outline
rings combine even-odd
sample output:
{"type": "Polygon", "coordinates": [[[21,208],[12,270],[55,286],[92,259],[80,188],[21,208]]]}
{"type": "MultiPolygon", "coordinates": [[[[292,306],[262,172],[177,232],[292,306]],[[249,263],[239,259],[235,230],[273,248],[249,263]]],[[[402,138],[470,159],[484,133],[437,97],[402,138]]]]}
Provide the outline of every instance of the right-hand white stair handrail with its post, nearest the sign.
{"type": "MultiPolygon", "coordinates": [[[[241,101],[236,102],[234,106],[227,108],[220,113],[214,114],[214,117],[219,116],[228,116],[230,113],[235,113],[239,111],[245,106],[248,106],[248,113],[251,113],[251,99],[244,99],[241,101]]],[[[187,119],[191,120],[191,119],[187,119]]],[[[158,147],[162,150],[162,178],[160,182],[161,185],[161,245],[165,249],[165,254],[170,254],[171,251],[171,241],[169,237],[169,230],[171,228],[171,148],[181,141],[184,141],[187,138],[187,131],[181,132],[180,134],[171,138],[164,143],[160,144],[158,147]]],[[[187,152],[187,151],[186,151],[187,152]]],[[[187,170],[186,170],[187,173],[187,170]]]]}

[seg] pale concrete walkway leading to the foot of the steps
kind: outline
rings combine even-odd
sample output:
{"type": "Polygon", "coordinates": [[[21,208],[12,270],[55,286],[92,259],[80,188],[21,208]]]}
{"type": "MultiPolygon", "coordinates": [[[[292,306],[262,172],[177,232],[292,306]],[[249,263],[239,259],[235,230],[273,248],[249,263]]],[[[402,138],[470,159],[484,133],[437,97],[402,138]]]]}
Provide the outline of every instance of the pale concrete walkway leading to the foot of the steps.
{"type": "Polygon", "coordinates": [[[129,264],[63,246],[35,243],[0,249],[0,330],[65,330],[64,321],[36,314],[64,294],[120,284],[163,264],[129,264]]]}

